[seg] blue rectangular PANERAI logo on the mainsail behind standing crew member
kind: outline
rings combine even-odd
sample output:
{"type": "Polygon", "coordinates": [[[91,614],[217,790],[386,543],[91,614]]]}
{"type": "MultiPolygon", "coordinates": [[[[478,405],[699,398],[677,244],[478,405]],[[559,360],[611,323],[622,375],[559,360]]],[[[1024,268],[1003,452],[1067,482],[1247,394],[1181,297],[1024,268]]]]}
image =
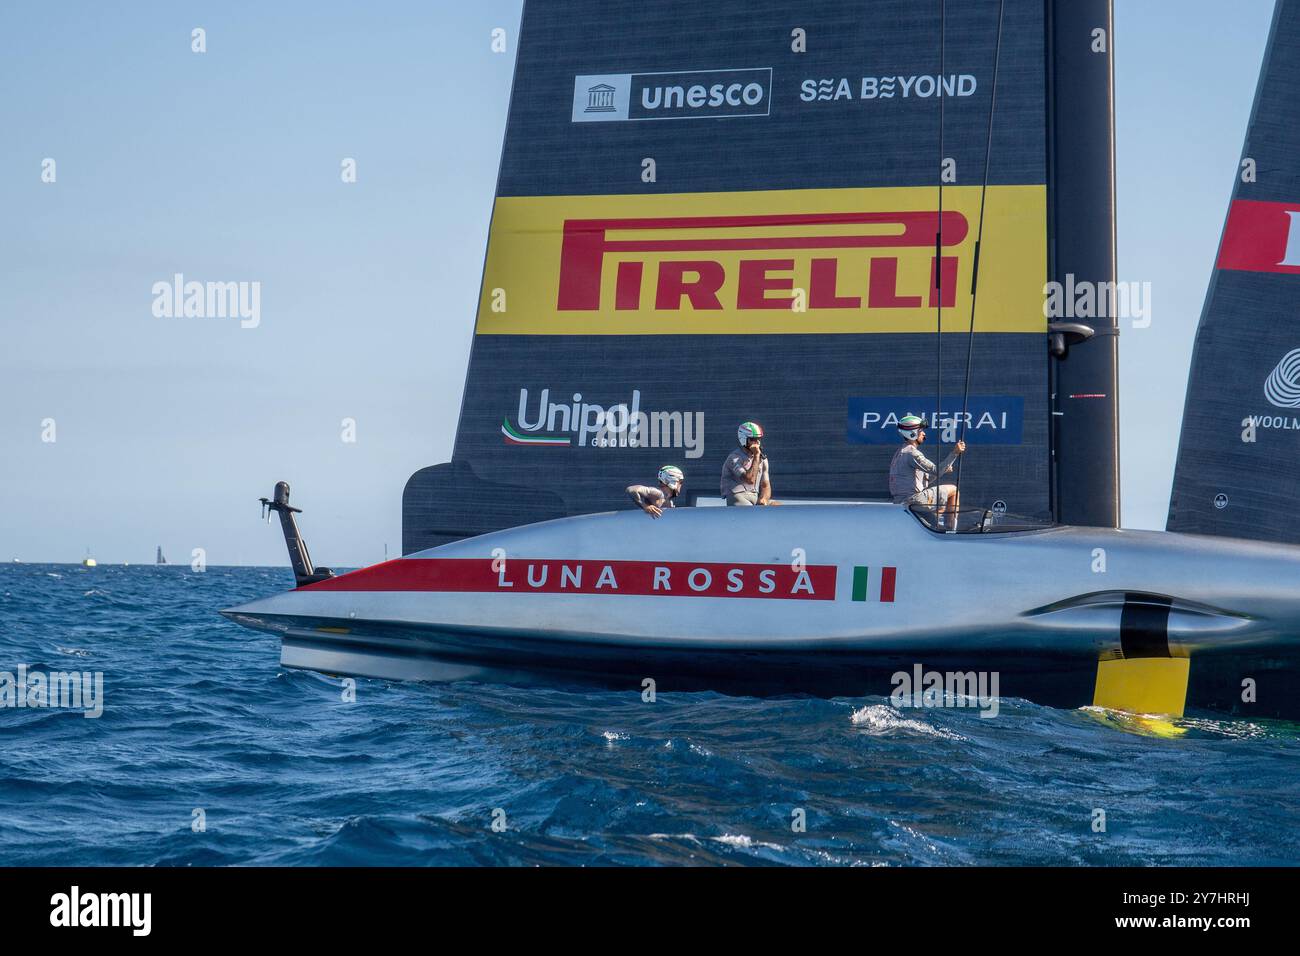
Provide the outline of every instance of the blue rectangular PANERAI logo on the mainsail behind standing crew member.
{"type": "Polygon", "coordinates": [[[930,423],[931,441],[952,444],[965,437],[971,445],[1019,445],[1023,440],[1020,395],[971,395],[965,408],[961,395],[945,397],[941,408],[935,395],[854,397],[846,440],[850,445],[898,445],[898,419],[909,412],[930,423]]]}

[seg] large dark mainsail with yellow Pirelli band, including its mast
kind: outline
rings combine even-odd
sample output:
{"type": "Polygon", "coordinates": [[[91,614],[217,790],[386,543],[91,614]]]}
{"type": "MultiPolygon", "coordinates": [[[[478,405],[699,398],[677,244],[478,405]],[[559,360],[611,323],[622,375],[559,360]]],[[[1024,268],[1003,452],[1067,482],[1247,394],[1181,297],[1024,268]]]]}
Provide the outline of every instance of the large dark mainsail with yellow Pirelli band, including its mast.
{"type": "Polygon", "coordinates": [[[1114,336],[1052,358],[1043,307],[1114,278],[1110,46],[1109,0],[528,4],[452,460],[408,481],[403,553],[666,463],[707,503],[744,420],[777,498],[880,498],[897,418],[944,444],[963,407],[966,502],[1114,524],[1114,336]]]}

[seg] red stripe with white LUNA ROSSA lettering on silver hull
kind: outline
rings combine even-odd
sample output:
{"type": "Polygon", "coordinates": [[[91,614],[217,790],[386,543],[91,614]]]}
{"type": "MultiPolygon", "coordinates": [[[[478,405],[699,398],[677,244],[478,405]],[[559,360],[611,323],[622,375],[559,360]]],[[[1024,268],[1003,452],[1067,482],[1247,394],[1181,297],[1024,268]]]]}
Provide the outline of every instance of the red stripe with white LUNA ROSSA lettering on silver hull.
{"type": "Polygon", "coordinates": [[[835,564],[564,558],[398,558],[306,591],[637,594],[833,601],[835,564]]]}

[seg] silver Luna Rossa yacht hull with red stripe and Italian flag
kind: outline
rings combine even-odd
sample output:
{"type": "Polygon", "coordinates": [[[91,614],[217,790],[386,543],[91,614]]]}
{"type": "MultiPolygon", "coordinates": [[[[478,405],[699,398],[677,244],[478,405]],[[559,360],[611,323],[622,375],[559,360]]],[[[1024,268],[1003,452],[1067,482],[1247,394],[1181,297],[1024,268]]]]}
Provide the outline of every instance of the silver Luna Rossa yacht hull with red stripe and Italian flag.
{"type": "Polygon", "coordinates": [[[861,696],[922,667],[1080,706],[1106,662],[1166,661],[1187,706],[1300,713],[1300,549],[941,535],[892,505],[566,518],[222,613],[277,632],[285,666],[358,676],[861,696]]]}

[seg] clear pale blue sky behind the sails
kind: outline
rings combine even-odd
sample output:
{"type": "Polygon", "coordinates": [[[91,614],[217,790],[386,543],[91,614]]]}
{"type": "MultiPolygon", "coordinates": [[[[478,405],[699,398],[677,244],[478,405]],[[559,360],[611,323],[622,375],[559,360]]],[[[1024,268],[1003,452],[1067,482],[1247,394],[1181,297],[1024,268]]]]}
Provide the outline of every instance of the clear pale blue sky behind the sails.
{"type": "MultiPolygon", "coordinates": [[[[280,476],[322,563],[398,553],[451,453],[519,8],[4,5],[0,559],[283,563],[280,476]],[[174,272],[260,281],[263,325],[156,319],[174,272]]],[[[1121,338],[1128,527],[1164,525],[1271,8],[1115,0],[1119,273],[1153,304],[1121,338]]]]}

